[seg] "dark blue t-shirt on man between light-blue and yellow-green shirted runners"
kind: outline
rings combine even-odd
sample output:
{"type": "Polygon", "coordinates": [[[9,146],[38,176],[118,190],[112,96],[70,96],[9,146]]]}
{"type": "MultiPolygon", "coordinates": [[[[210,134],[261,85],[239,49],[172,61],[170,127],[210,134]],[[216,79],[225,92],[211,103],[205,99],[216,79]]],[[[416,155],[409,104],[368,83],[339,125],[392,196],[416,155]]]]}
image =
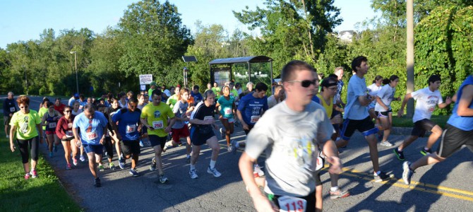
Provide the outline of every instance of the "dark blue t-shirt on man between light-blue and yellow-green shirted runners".
{"type": "Polygon", "coordinates": [[[140,139],[138,124],[140,123],[141,110],[136,108],[134,112],[124,108],[112,115],[112,122],[118,122],[119,134],[124,141],[136,141],[140,139]]]}

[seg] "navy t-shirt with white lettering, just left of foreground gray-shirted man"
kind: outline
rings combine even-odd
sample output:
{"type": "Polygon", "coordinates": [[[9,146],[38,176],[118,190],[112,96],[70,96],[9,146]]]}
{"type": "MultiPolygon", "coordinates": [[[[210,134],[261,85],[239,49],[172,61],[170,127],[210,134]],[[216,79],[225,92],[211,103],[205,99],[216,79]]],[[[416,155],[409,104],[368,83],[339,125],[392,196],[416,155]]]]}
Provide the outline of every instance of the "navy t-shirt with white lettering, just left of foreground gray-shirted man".
{"type": "Polygon", "coordinates": [[[268,110],[268,98],[254,98],[253,93],[249,93],[241,98],[238,110],[246,124],[255,125],[263,111],[268,110]]]}

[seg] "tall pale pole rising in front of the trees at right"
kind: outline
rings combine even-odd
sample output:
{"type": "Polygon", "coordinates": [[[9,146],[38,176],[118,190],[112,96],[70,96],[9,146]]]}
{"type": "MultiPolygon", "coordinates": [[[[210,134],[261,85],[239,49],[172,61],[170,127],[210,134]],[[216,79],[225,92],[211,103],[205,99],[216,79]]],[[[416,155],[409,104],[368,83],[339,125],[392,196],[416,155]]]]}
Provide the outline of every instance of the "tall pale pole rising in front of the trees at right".
{"type": "MultiPolygon", "coordinates": [[[[414,91],[414,0],[407,0],[407,93],[414,91]]],[[[414,100],[407,102],[407,117],[414,115],[414,100]]]]}

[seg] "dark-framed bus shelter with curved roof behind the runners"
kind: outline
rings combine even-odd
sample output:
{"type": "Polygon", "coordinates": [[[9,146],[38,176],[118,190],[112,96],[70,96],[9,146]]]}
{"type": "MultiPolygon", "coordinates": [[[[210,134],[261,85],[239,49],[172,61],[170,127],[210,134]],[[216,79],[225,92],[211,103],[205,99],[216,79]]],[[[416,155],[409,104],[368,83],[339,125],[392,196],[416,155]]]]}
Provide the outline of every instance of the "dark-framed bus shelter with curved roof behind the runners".
{"type": "MultiPolygon", "coordinates": [[[[266,56],[233,57],[214,59],[210,64],[210,83],[217,82],[219,87],[228,81],[241,83],[245,90],[246,83],[265,83],[271,88],[273,82],[273,59],[266,56]]],[[[272,89],[268,89],[271,91],[272,89]]]]}

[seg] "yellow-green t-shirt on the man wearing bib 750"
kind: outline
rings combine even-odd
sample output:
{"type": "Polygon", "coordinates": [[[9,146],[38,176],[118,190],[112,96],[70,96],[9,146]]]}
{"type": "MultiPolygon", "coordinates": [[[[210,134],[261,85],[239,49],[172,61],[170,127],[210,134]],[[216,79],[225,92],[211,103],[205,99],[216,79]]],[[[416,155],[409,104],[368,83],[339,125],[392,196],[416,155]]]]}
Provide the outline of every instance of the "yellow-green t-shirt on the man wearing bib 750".
{"type": "Polygon", "coordinates": [[[174,118],[174,112],[171,107],[160,102],[160,105],[152,105],[152,103],[143,107],[140,118],[147,119],[148,124],[154,129],[148,129],[148,134],[164,137],[167,132],[164,129],[167,127],[167,119],[174,118]]]}

